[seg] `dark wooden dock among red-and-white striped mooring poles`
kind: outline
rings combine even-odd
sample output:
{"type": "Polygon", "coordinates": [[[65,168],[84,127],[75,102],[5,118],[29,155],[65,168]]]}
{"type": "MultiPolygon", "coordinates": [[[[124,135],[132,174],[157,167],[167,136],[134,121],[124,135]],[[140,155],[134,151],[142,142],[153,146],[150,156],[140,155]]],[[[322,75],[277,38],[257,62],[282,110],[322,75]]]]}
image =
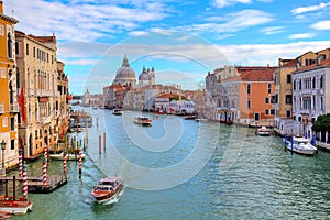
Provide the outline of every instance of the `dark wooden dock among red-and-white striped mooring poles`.
{"type": "MultiPolygon", "coordinates": [[[[13,176],[4,176],[0,177],[0,183],[13,183],[13,176]]],[[[23,177],[15,177],[15,180],[23,182],[23,177]]],[[[43,176],[28,177],[28,191],[33,194],[50,194],[66,184],[67,178],[62,175],[48,175],[46,186],[44,186],[43,176]]]]}

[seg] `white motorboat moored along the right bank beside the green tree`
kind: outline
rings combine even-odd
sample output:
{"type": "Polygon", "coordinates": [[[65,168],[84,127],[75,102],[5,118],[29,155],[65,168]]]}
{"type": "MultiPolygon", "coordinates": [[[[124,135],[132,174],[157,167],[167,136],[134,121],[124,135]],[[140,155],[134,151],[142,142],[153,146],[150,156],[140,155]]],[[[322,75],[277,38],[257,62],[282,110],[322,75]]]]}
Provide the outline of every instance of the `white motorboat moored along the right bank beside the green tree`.
{"type": "Polygon", "coordinates": [[[304,155],[315,155],[318,151],[316,146],[314,146],[309,139],[304,138],[301,135],[292,136],[290,140],[286,140],[286,148],[304,155]]]}

